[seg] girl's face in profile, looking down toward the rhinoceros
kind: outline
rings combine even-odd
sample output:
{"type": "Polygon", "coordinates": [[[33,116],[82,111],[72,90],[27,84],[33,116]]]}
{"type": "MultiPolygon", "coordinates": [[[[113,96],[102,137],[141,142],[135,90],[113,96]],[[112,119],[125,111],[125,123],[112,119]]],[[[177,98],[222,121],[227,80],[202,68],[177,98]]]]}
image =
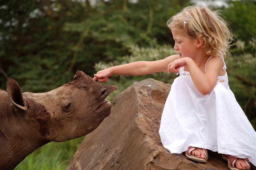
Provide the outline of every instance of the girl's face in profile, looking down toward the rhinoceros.
{"type": "Polygon", "coordinates": [[[194,58],[196,56],[197,39],[192,39],[185,35],[182,29],[172,28],[172,36],[175,41],[174,49],[180,57],[194,58]]]}

